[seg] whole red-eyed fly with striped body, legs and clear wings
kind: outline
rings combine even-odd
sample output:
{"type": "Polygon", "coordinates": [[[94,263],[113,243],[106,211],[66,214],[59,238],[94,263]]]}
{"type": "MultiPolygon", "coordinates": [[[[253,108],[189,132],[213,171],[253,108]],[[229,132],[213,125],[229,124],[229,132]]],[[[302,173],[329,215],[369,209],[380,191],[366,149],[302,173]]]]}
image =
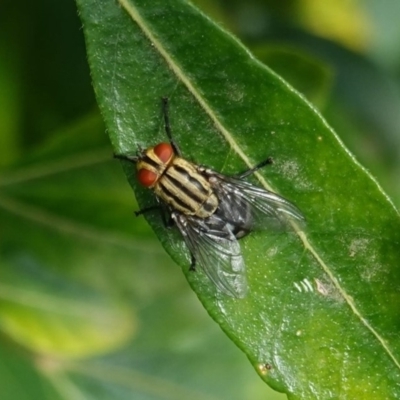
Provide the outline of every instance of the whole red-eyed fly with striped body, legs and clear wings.
{"type": "Polygon", "coordinates": [[[164,224],[176,225],[182,234],[191,254],[190,269],[198,266],[220,291],[243,298],[247,279],[238,240],[271,222],[283,225],[288,217],[303,220],[303,216],[283,197],[244,180],[271,164],[271,158],[233,176],[185,160],[172,137],[168,99],[163,98],[162,104],[169,143],[140,150],[136,156],[115,156],[136,164],[139,182],[158,200],[158,205],[136,215],[161,210],[164,224]]]}

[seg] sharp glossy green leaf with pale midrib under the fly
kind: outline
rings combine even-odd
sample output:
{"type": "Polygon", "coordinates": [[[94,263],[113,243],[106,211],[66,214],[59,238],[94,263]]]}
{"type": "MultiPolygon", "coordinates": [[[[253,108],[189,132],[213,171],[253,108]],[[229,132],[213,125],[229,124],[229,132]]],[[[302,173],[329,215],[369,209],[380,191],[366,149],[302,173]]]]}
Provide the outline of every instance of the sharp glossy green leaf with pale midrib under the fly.
{"type": "MultiPolygon", "coordinates": [[[[249,295],[216,292],[176,232],[149,222],[209,314],[290,398],[400,396],[400,219],[322,117],[183,0],[78,0],[93,82],[116,153],[164,141],[160,98],[188,159],[225,173],[266,156],[258,184],[307,227],[241,241],[249,295]]],[[[141,206],[154,202],[126,173],[141,206]]]]}

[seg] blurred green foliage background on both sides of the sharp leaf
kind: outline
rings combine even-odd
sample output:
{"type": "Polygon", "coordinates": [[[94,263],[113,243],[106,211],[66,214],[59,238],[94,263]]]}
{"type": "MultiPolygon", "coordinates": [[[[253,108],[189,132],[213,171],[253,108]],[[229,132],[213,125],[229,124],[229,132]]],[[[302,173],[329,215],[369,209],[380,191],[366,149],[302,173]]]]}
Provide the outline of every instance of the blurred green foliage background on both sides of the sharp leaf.
{"type": "MultiPolygon", "coordinates": [[[[304,93],[399,206],[400,3],[195,3],[304,93]]],[[[0,32],[2,400],[285,398],[134,219],[74,2],[3,0],[0,32]]]]}

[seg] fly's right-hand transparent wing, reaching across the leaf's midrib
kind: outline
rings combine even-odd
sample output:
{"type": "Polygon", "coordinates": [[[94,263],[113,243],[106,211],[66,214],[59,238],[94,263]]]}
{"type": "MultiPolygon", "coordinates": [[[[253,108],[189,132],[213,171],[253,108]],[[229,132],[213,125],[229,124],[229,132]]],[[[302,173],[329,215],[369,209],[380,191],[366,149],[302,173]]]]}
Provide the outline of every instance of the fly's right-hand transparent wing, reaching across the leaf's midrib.
{"type": "Polygon", "coordinates": [[[288,219],[304,221],[288,200],[239,178],[210,172],[210,183],[220,200],[221,218],[247,231],[286,226],[288,219]]]}

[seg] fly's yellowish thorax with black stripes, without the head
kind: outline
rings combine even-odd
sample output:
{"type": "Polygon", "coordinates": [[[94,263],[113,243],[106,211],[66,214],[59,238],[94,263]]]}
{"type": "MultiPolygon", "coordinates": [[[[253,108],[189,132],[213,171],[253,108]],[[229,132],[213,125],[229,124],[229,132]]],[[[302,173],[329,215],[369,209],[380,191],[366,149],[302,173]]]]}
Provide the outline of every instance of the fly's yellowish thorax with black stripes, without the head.
{"type": "Polygon", "coordinates": [[[207,218],[218,207],[218,199],[207,179],[193,164],[179,157],[168,166],[154,190],[173,209],[186,215],[207,218]]]}

